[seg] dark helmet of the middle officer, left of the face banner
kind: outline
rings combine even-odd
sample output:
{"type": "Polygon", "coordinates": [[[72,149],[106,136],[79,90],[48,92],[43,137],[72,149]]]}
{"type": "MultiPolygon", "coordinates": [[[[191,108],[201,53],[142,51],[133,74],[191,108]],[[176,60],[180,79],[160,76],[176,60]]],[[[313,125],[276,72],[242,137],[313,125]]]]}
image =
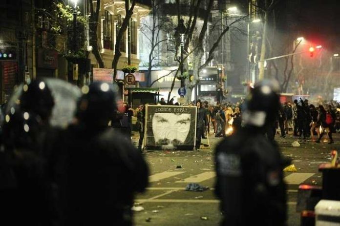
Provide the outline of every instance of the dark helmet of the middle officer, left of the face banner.
{"type": "Polygon", "coordinates": [[[78,119],[85,124],[107,126],[117,110],[116,90],[116,87],[106,82],[83,86],[83,96],[78,102],[78,119]]]}

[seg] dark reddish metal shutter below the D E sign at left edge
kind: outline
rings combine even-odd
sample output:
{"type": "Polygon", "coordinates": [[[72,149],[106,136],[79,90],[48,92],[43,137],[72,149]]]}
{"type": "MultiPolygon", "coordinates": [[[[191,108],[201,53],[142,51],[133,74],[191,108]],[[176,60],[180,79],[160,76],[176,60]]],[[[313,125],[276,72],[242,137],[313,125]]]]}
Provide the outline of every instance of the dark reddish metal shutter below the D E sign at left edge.
{"type": "Polygon", "coordinates": [[[18,74],[17,62],[2,62],[2,102],[7,102],[13,92],[18,74]]]}

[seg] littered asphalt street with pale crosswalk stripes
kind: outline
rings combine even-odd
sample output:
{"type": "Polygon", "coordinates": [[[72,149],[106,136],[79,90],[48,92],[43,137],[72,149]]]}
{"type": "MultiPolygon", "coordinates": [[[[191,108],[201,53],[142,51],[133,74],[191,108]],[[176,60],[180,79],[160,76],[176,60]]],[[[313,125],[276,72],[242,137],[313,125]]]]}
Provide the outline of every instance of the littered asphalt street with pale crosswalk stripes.
{"type": "MultiPolygon", "coordinates": [[[[138,144],[134,133],[132,142],[138,144]]],[[[340,134],[334,134],[335,144],[307,141],[292,147],[297,138],[276,135],[283,155],[292,159],[297,172],[284,173],[287,184],[288,226],[298,226],[300,213],[296,211],[297,189],[300,184],[321,185],[318,165],[330,162],[331,150],[338,150],[340,134]]],[[[136,226],[217,226],[221,220],[219,201],[213,193],[215,180],[213,152],[221,138],[209,136],[210,147],[200,151],[148,151],[149,187],[135,199],[135,206],[144,210],[134,212],[136,226]],[[180,166],[181,168],[177,168],[180,166]],[[186,191],[189,183],[198,183],[210,189],[202,192],[186,191]]],[[[208,140],[203,139],[203,144],[208,140]]],[[[265,217],[266,213],[263,213],[265,217]]]]}

